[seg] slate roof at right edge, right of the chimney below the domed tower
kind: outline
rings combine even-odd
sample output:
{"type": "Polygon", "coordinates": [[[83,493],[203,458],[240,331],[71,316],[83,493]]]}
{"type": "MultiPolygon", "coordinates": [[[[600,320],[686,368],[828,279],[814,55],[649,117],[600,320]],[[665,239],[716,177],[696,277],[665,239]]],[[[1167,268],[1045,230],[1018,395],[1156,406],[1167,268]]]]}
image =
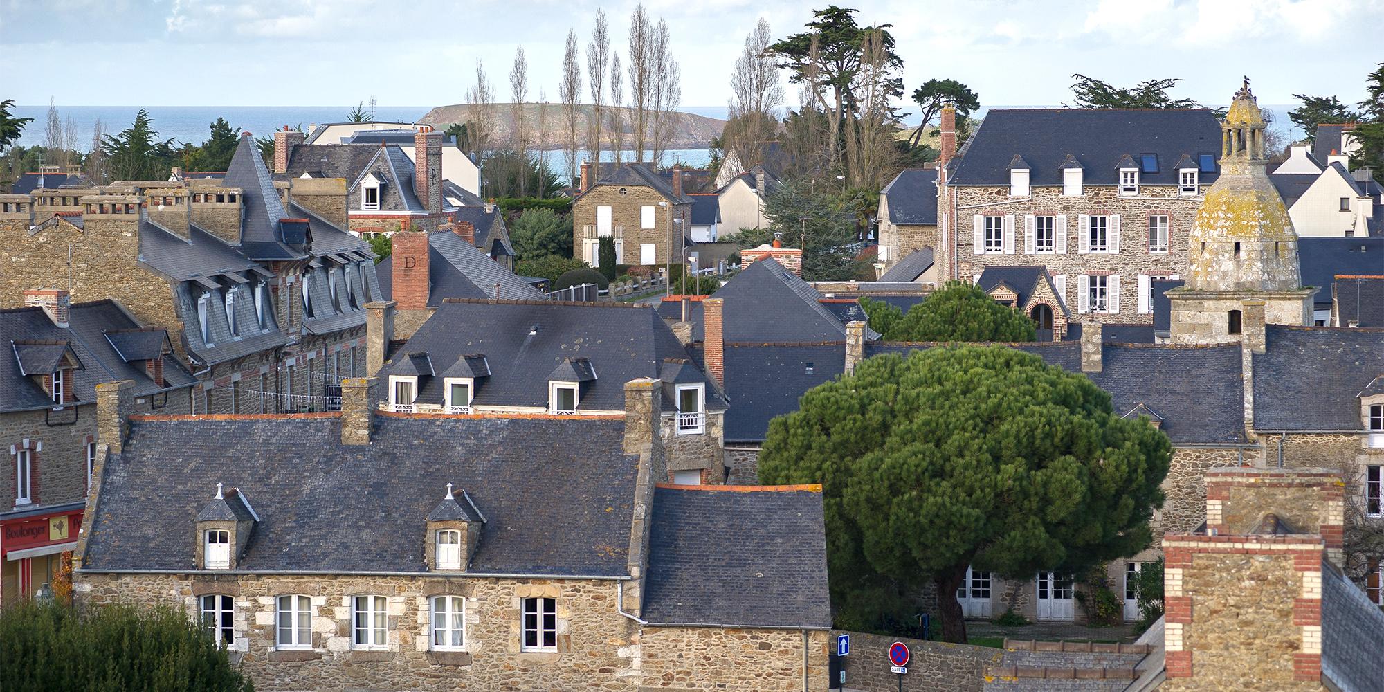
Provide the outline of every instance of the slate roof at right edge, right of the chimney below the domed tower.
{"type": "Polygon", "coordinates": [[[1356,393],[1384,375],[1384,329],[1265,329],[1254,356],[1254,426],[1261,430],[1363,430],[1356,393]]]}

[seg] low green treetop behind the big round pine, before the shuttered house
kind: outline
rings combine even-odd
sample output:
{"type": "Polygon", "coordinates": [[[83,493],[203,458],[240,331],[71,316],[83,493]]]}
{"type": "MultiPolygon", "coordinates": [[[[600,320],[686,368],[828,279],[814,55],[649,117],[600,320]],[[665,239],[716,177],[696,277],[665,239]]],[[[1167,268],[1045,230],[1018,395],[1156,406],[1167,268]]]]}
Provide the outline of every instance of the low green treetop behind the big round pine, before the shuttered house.
{"type": "Polygon", "coordinates": [[[861,298],[871,329],[891,342],[1031,342],[1034,321],[996,303],[980,286],[948,281],[907,313],[883,300],[861,298]]]}

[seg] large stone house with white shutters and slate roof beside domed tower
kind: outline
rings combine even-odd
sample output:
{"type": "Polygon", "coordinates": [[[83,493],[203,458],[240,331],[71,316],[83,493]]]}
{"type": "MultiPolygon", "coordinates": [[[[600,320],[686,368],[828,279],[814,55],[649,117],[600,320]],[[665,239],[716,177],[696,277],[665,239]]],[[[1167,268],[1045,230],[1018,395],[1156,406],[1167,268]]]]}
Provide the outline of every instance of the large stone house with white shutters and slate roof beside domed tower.
{"type": "Polygon", "coordinates": [[[948,134],[941,277],[1044,264],[1082,321],[1151,321],[1150,282],[1185,273],[1219,174],[1210,111],[995,109],[954,158],[948,134]]]}

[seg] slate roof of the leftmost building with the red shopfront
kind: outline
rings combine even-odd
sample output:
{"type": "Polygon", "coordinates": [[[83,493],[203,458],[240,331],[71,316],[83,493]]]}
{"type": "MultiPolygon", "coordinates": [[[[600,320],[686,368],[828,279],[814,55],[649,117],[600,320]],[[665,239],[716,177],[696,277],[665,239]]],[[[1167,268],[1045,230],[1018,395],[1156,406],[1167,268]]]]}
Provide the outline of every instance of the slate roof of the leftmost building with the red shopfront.
{"type": "MultiPolygon", "coordinates": [[[[14,307],[0,310],[0,334],[6,342],[57,342],[66,343],[82,363],[82,370],[72,374],[71,394],[78,403],[95,403],[95,385],[113,379],[134,381],[136,396],[161,392],[144,372],[143,363],[127,363],[107,340],[107,331],[138,329],[134,321],[113,300],[73,303],[68,311],[68,328],[60,329],[48,320],[40,307],[14,307]]],[[[149,332],[159,334],[159,332],[149,332]]],[[[8,353],[0,354],[0,411],[26,411],[51,408],[53,399],[33,379],[24,375],[14,347],[4,343],[8,353]]],[[[176,358],[163,361],[163,378],[169,389],[191,386],[195,379],[177,364],[176,358]]]]}

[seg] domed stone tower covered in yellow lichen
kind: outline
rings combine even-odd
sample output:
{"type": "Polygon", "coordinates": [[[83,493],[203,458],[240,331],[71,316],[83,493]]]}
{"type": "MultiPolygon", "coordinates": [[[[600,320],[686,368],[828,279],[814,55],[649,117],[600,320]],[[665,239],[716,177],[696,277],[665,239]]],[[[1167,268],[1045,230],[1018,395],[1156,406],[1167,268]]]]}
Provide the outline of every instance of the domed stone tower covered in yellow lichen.
{"type": "Polygon", "coordinates": [[[1312,324],[1316,289],[1302,288],[1297,233],[1265,167],[1264,127],[1246,79],[1221,123],[1221,176],[1187,234],[1186,284],[1168,292],[1174,343],[1240,340],[1246,300],[1262,300],[1269,324],[1312,324]]]}

